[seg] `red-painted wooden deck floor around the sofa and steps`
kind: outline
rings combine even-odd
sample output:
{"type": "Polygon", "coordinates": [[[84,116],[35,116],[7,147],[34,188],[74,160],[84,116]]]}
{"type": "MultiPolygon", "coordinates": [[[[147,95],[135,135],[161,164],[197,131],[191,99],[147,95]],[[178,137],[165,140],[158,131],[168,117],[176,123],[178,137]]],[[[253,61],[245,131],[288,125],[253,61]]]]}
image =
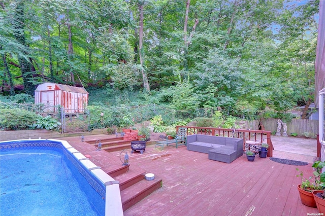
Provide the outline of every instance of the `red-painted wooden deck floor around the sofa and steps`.
{"type": "MultiPolygon", "coordinates": [[[[69,139],[69,138],[68,138],[69,139]]],[[[69,141],[69,140],[68,140],[69,141]]],[[[71,142],[71,141],[70,141],[71,142]]],[[[73,145],[73,142],[71,142],[73,145]]],[[[73,145],[74,146],[74,145],[73,145]]],[[[83,154],[93,151],[94,146],[76,146],[83,154]],[[90,149],[89,149],[90,148],[90,149]],[[87,150],[88,149],[88,150],[87,150]]],[[[104,153],[104,152],[103,152],[104,153]]],[[[94,162],[100,166],[109,162],[107,157],[96,152],[94,162]]],[[[120,151],[108,153],[119,160],[120,151]]],[[[269,158],[256,157],[249,162],[246,156],[234,162],[222,163],[208,159],[207,154],[187,151],[168,146],[154,149],[146,147],[144,154],[131,154],[131,167],[138,167],[147,173],[163,179],[163,186],[137,204],[124,211],[124,215],[308,215],[318,213],[301,203],[297,186],[301,179],[296,177],[296,168],[304,175],[312,175],[310,155],[274,152],[273,157],[306,161],[306,166],[285,165],[269,158]]],[[[108,171],[108,170],[107,170],[108,171]]]]}

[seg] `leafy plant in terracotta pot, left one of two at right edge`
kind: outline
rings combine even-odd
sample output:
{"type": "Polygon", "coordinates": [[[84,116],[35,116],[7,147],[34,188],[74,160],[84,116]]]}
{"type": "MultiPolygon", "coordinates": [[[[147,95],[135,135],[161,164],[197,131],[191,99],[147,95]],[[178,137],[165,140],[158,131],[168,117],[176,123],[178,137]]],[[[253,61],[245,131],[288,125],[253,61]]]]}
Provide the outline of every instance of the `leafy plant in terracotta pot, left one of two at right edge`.
{"type": "MultiPolygon", "coordinates": [[[[316,207],[313,191],[324,189],[324,187],[320,185],[320,172],[324,166],[324,162],[315,161],[312,165],[312,167],[315,168],[315,171],[313,171],[314,176],[305,178],[302,171],[300,171],[300,174],[297,175],[297,177],[301,177],[301,184],[298,185],[298,191],[301,202],[304,205],[314,208],[316,207]]],[[[296,170],[299,171],[298,168],[296,168],[296,170]]]]}

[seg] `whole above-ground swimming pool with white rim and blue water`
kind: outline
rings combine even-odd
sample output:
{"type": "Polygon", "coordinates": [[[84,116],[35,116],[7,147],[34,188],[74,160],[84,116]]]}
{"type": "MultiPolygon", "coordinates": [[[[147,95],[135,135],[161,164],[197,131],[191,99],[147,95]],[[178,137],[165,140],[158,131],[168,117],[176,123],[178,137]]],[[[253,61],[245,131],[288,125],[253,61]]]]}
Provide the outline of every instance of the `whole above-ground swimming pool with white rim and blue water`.
{"type": "Polygon", "coordinates": [[[0,162],[1,215],[123,215],[118,182],[67,141],[0,142],[0,162]]]}

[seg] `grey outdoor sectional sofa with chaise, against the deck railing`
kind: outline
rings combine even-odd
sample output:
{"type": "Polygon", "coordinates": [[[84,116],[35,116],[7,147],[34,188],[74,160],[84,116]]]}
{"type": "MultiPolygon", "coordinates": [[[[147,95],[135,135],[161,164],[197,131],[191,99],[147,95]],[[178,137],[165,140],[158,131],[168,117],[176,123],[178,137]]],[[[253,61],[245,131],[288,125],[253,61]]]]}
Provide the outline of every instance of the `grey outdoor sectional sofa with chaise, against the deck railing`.
{"type": "Polygon", "coordinates": [[[187,150],[209,154],[210,160],[231,163],[243,155],[243,139],[193,134],[187,136],[187,150]]]}

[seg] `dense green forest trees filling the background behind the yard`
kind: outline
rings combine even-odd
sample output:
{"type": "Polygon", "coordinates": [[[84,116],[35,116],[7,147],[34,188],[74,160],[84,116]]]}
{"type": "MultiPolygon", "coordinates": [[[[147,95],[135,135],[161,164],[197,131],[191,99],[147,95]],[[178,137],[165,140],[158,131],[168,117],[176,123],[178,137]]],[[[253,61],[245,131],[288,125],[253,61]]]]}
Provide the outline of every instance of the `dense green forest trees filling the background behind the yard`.
{"type": "Polygon", "coordinates": [[[319,0],[0,1],[1,93],[34,95],[55,82],[97,89],[93,105],[283,114],[313,101],[318,8],[319,0]]]}

